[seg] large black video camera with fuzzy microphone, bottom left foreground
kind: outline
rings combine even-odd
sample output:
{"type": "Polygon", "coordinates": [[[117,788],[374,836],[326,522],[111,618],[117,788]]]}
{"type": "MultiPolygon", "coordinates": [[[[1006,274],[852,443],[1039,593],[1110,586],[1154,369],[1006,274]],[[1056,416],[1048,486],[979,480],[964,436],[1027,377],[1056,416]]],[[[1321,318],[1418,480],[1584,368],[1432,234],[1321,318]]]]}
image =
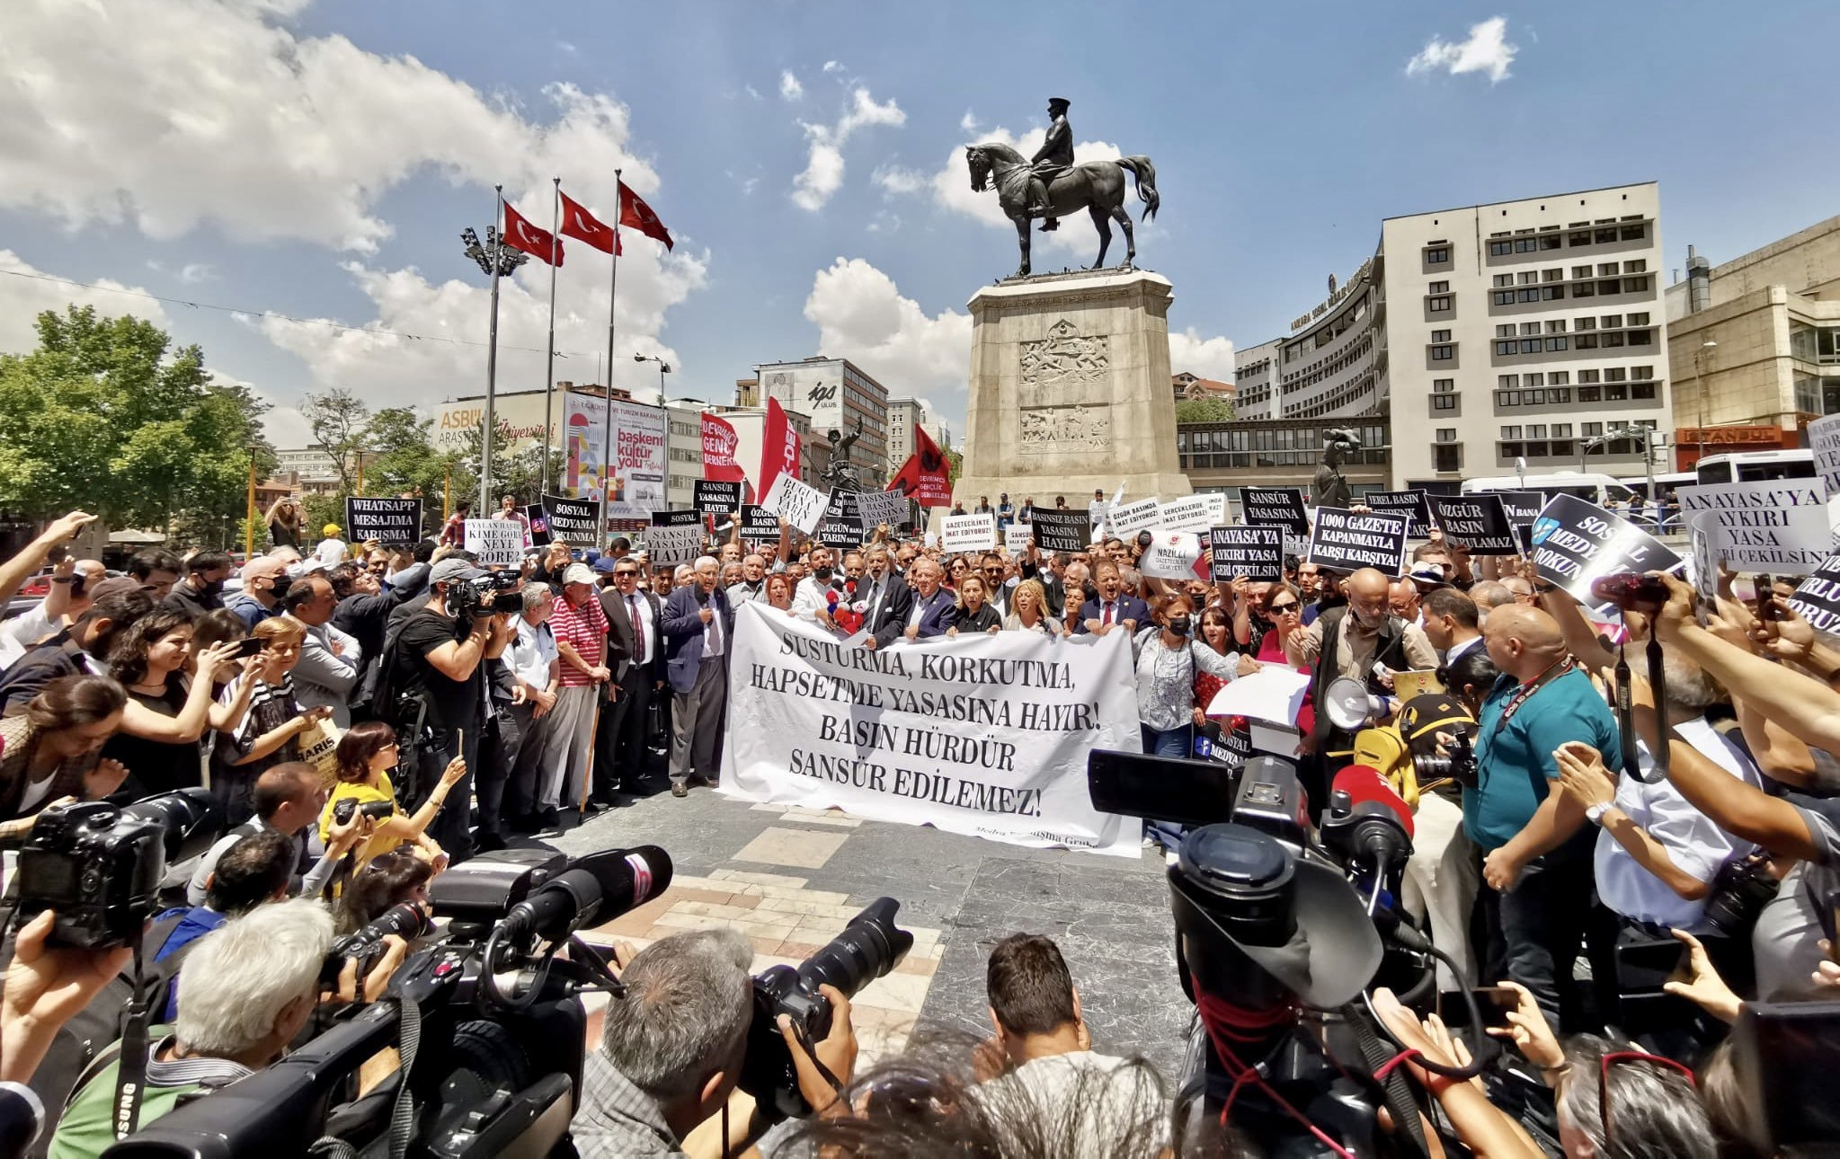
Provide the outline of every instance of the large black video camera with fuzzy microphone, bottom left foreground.
{"type": "MultiPolygon", "coordinates": [[[[576,859],[500,850],[456,865],[429,890],[445,935],[403,962],[383,1001],[105,1153],[280,1157],[339,1139],[359,1152],[388,1142],[392,1153],[412,1146],[454,1159],[546,1155],[581,1087],[580,995],[624,993],[574,931],[627,912],[670,881],[672,859],[657,846],[576,859]],[[401,1067],[359,1095],[359,1067],[390,1047],[401,1067]]],[[[370,935],[381,944],[375,924],[355,936],[370,935]]]]}

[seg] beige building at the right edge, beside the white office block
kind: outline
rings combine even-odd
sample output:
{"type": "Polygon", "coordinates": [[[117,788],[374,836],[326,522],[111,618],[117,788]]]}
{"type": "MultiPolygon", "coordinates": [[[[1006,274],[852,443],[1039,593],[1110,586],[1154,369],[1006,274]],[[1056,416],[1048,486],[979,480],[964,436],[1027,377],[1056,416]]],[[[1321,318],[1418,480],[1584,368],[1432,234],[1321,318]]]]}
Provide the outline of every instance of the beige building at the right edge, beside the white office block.
{"type": "Polygon", "coordinates": [[[1840,412],[1840,217],[1724,265],[1687,247],[1667,287],[1676,464],[1801,447],[1840,412]]]}

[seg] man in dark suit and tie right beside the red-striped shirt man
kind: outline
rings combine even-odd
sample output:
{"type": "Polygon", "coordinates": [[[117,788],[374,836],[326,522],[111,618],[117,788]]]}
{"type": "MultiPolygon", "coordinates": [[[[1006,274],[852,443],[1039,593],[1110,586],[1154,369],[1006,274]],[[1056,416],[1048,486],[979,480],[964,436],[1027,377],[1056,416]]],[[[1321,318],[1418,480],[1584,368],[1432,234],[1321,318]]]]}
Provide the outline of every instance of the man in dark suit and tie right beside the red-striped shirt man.
{"type": "MultiPolygon", "coordinates": [[[[605,556],[602,557],[605,559],[605,556]]],[[[638,561],[615,559],[613,585],[600,591],[607,613],[609,666],[618,688],[600,716],[594,797],[620,787],[640,793],[646,780],[646,723],[651,697],[664,688],[664,602],[638,589],[638,561]]]]}

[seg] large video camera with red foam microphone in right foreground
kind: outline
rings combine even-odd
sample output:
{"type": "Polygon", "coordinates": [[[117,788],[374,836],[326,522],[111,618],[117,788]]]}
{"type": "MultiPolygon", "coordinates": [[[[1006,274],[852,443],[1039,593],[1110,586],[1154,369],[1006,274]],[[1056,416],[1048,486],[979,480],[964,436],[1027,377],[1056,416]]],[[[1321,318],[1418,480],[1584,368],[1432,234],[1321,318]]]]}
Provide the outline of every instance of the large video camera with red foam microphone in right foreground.
{"type": "Polygon", "coordinates": [[[1198,1010],[1185,1098],[1209,1117],[1231,1107],[1273,1153],[1336,1153],[1312,1150],[1299,1115],[1347,1153],[1424,1153],[1404,1076],[1373,1078],[1397,1047],[1360,1001],[1391,986],[1424,1004],[1435,990],[1441,951],[1395,901],[1413,833],[1400,795],[1374,769],[1343,769],[1312,830],[1288,760],[1233,769],[1102,749],[1087,789],[1095,809],[1194,826],[1168,866],[1178,973],[1198,1010]],[[1380,1106],[1404,1130],[1380,1131],[1380,1106]]]}

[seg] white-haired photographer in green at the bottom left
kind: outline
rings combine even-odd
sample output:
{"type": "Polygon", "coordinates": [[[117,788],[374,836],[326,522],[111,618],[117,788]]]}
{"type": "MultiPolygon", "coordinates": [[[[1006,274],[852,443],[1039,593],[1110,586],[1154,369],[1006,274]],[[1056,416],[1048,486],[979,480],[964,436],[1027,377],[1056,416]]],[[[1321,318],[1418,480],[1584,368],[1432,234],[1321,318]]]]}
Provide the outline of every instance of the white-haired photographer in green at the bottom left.
{"type": "MultiPolygon", "coordinates": [[[[333,920],[318,901],[259,905],[206,935],[178,981],[178,1021],[147,1050],[145,1126],[282,1056],[320,993],[333,920]]],[[[114,1142],[120,1045],[92,1065],[52,1139],[52,1159],[92,1159],[114,1142]]]]}

